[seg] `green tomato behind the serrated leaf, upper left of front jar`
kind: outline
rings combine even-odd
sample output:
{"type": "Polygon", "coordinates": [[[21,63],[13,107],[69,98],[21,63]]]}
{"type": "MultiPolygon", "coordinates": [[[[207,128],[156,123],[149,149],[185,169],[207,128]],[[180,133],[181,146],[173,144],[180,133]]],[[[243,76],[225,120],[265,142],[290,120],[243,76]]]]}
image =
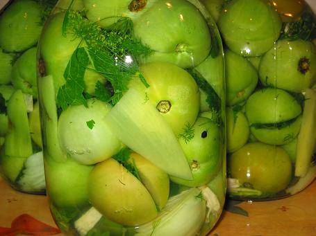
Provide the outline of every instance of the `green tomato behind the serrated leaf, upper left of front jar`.
{"type": "MultiPolygon", "coordinates": [[[[47,20],[40,37],[40,61],[44,63],[44,74],[52,75],[55,91],[65,83],[64,72],[78,46],[85,46],[82,39],[71,33],[63,35],[64,13],[57,13],[47,20]],[[51,37],[53,35],[53,37],[51,37]],[[56,43],[57,42],[57,43],[56,43]]],[[[94,94],[97,81],[104,84],[106,79],[95,71],[85,71],[85,92],[94,94]]]]}

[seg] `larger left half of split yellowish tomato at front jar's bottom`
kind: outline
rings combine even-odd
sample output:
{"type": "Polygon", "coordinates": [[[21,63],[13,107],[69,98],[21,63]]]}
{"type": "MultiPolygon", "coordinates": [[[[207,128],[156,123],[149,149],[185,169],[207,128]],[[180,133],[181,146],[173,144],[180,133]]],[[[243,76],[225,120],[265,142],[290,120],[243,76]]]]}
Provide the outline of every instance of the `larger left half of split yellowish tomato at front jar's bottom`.
{"type": "Polygon", "coordinates": [[[157,216],[156,205],[149,191],[113,158],[94,167],[88,185],[92,206],[111,221],[137,226],[157,216]]]}

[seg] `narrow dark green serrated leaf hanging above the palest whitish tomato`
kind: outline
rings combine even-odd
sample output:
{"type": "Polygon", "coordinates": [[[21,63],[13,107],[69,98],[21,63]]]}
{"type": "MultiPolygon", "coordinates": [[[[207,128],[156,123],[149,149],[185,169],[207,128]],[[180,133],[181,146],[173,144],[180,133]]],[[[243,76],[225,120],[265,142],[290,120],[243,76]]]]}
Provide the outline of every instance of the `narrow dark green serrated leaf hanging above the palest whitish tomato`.
{"type": "Polygon", "coordinates": [[[85,105],[87,101],[83,96],[85,89],[85,69],[88,66],[89,57],[85,48],[77,48],[72,54],[64,73],[66,83],[58,89],[57,106],[65,111],[71,105],[85,105]]]}

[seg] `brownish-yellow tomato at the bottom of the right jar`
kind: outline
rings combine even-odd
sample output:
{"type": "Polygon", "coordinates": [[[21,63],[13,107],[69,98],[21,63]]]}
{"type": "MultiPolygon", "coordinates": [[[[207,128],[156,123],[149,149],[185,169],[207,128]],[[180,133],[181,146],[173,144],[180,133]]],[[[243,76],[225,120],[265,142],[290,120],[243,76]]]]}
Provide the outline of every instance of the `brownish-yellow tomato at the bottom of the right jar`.
{"type": "Polygon", "coordinates": [[[292,176],[290,156],[281,147],[249,143],[228,158],[233,179],[254,189],[274,194],[285,189],[292,176]]]}

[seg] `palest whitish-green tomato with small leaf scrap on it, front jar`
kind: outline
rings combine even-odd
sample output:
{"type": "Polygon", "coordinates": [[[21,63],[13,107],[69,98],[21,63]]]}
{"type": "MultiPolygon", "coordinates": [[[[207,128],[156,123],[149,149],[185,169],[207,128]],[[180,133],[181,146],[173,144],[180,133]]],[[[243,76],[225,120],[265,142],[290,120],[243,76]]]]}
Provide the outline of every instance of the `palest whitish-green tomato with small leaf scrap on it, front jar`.
{"type": "Polygon", "coordinates": [[[74,105],[63,111],[58,120],[58,137],[68,156],[90,165],[119,151],[122,144],[105,121],[110,109],[108,103],[91,99],[88,107],[74,105]]]}

